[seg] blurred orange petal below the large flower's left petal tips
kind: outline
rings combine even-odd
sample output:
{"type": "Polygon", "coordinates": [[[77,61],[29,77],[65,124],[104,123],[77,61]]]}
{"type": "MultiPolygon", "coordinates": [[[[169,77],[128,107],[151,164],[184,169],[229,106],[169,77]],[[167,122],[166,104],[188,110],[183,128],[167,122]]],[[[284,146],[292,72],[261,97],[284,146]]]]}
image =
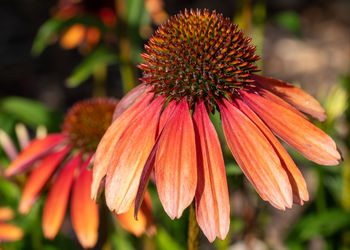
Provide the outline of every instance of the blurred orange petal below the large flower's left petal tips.
{"type": "Polygon", "coordinates": [[[141,236],[144,233],[149,235],[154,235],[156,232],[156,227],[153,221],[151,207],[151,197],[148,192],[145,193],[141,209],[138,212],[137,220],[134,218],[134,206],[126,213],[116,214],[120,224],[123,228],[130,233],[141,236]]]}

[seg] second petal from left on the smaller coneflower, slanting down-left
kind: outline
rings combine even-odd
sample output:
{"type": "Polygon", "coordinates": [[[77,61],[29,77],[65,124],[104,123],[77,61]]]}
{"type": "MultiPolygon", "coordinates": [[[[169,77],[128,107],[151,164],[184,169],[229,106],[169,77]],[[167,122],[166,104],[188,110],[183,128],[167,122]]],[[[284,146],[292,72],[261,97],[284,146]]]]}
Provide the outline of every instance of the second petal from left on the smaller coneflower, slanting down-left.
{"type": "Polygon", "coordinates": [[[44,187],[47,180],[52,176],[55,169],[63,161],[63,158],[70,151],[71,147],[66,146],[63,150],[47,155],[30,174],[24,187],[19,212],[27,214],[36,201],[39,192],[44,187]]]}

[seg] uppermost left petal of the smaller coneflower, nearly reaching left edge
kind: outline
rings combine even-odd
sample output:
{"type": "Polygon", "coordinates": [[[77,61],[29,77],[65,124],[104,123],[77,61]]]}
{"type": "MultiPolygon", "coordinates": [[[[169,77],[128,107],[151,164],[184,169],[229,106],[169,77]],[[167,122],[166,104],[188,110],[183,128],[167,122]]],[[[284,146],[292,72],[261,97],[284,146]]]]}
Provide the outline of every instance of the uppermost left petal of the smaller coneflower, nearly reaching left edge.
{"type": "Polygon", "coordinates": [[[22,171],[34,161],[47,154],[54,147],[61,144],[65,138],[66,137],[62,134],[51,134],[43,139],[33,140],[29,146],[20,153],[17,159],[10,164],[4,175],[9,177],[22,171]]]}

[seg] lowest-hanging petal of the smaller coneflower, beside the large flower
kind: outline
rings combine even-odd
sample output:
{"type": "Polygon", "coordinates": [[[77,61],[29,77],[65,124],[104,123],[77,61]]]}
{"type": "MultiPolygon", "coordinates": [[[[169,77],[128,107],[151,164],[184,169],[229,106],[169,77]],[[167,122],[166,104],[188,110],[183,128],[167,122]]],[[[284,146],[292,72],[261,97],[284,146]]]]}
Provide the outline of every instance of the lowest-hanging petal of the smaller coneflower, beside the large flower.
{"type": "Polygon", "coordinates": [[[75,233],[84,248],[92,248],[98,238],[98,206],[91,200],[92,171],[88,170],[91,156],[84,162],[73,185],[71,219],[75,233]]]}

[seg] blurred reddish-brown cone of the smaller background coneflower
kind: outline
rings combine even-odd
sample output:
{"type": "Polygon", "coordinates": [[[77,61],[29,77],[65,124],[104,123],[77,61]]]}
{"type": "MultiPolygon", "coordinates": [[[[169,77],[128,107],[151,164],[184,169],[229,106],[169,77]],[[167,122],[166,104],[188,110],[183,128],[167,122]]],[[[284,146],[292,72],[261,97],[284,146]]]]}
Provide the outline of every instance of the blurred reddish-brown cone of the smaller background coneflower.
{"type": "Polygon", "coordinates": [[[94,152],[112,122],[118,101],[95,98],[75,104],[67,113],[62,131],[75,148],[94,152]]]}

